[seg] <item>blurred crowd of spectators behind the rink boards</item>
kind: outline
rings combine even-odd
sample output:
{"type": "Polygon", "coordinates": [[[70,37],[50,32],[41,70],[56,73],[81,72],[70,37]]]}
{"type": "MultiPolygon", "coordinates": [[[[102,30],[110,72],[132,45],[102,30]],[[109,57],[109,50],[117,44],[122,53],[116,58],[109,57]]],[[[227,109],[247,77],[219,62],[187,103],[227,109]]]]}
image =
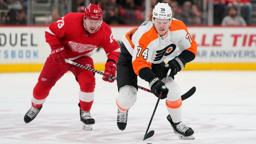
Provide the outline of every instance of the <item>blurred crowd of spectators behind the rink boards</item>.
{"type": "MultiPolygon", "coordinates": [[[[43,2],[52,3],[53,0],[43,2]]],[[[107,24],[139,25],[145,21],[145,0],[90,0],[90,2],[102,7],[103,20],[107,24]]],[[[183,21],[186,25],[207,25],[207,10],[203,11],[202,0],[151,0],[151,11],[158,2],[169,3],[174,18],[183,21]]],[[[206,2],[209,3],[209,0],[206,2]]],[[[213,0],[213,2],[214,25],[251,24],[251,0],[213,0]]],[[[83,12],[84,9],[85,0],[72,0],[72,12],[83,12]]],[[[0,0],[0,24],[26,25],[26,13],[27,0],[0,0]]],[[[50,20],[48,19],[46,24],[64,15],[61,15],[58,9],[52,9],[48,16],[50,20]]]]}

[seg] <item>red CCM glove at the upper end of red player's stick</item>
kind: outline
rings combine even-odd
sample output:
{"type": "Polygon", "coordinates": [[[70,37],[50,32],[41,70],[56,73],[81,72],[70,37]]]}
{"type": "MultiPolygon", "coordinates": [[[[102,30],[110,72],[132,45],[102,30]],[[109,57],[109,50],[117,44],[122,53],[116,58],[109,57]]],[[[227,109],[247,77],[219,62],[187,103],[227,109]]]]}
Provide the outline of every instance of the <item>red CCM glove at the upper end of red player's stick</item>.
{"type": "Polygon", "coordinates": [[[61,65],[66,64],[65,58],[67,58],[67,53],[63,46],[52,48],[51,54],[52,54],[54,63],[59,63],[61,65]]]}

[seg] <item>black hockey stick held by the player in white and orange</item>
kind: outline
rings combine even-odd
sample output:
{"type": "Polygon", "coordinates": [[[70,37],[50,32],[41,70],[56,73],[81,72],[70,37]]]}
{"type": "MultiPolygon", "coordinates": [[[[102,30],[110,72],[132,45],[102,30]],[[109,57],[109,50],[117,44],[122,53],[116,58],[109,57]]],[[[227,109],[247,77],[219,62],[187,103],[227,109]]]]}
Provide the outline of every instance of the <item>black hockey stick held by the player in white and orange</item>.
{"type": "MultiPolygon", "coordinates": [[[[169,69],[168,72],[167,72],[166,78],[165,78],[165,80],[164,80],[164,84],[166,84],[167,78],[169,77],[170,73],[171,73],[171,69],[169,69]]],[[[149,121],[149,124],[148,124],[148,127],[147,127],[147,130],[146,130],[146,133],[145,133],[145,135],[144,135],[143,140],[152,137],[152,136],[154,135],[154,133],[155,133],[155,131],[153,131],[153,130],[148,133],[148,129],[149,129],[150,125],[151,125],[151,122],[152,122],[153,117],[154,117],[154,115],[155,115],[156,108],[157,108],[157,106],[158,106],[158,103],[159,103],[159,100],[160,100],[162,94],[163,94],[163,91],[161,91],[160,94],[159,94],[159,96],[158,96],[155,109],[154,109],[153,114],[152,114],[152,116],[151,116],[151,119],[150,119],[150,121],[149,121]]]]}

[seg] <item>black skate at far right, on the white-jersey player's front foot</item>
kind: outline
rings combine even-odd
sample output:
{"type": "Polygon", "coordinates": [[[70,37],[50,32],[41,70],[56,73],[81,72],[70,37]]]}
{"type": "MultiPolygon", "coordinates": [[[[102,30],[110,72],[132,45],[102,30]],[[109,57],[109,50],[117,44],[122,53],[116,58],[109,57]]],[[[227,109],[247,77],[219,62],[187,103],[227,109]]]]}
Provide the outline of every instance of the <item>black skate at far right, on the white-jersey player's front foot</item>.
{"type": "Polygon", "coordinates": [[[178,135],[180,139],[195,139],[193,136],[194,131],[192,128],[185,126],[182,122],[174,123],[170,115],[167,116],[167,120],[171,123],[174,133],[178,135]]]}

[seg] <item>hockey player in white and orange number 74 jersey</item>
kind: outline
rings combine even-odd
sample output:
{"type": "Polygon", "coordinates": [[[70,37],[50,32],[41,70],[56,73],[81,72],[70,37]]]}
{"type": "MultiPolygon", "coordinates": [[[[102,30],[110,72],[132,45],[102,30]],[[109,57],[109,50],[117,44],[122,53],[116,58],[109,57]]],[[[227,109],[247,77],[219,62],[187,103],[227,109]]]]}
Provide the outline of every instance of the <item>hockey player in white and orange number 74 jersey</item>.
{"type": "Polygon", "coordinates": [[[167,120],[174,133],[181,139],[194,139],[194,131],[182,123],[181,90],[174,81],[174,75],[192,61],[196,54],[196,42],[190,37],[185,24],[173,18],[167,3],[158,3],[149,15],[149,20],[122,37],[117,63],[118,128],[126,128],[128,110],[136,101],[139,76],[149,82],[155,96],[163,92],[161,99],[166,98],[169,112],[167,120]],[[172,60],[165,64],[167,57],[172,60]],[[171,74],[164,84],[169,69],[171,74]]]}

